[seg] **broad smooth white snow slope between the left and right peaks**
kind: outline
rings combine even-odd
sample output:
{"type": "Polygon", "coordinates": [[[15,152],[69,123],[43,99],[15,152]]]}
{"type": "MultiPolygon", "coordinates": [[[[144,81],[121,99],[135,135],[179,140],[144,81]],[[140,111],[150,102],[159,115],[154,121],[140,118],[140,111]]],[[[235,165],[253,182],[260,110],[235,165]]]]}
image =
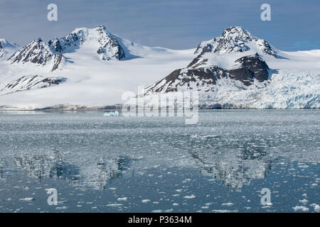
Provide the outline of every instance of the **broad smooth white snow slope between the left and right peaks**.
{"type": "Polygon", "coordinates": [[[23,76],[66,78],[58,86],[0,93],[0,109],[39,109],[55,105],[77,109],[119,104],[124,92],[137,92],[138,86],[151,84],[194,57],[195,49],[149,48],[114,37],[124,50],[122,60],[101,60],[97,46],[92,44],[96,44],[95,40],[83,40],[82,45],[63,52],[68,62],[60,70],[51,71],[51,65],[43,67],[30,62],[14,65],[10,61],[0,62],[0,90],[23,76]]]}

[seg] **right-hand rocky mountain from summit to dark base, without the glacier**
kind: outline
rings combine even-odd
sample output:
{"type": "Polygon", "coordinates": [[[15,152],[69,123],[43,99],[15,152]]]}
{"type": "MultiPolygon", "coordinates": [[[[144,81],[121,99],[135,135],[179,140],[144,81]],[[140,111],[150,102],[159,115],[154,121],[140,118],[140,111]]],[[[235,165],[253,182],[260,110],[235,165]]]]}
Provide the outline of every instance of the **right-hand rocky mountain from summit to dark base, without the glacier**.
{"type": "Polygon", "coordinates": [[[264,87],[270,78],[270,69],[263,57],[277,57],[277,51],[267,41],[240,27],[227,28],[220,37],[200,43],[195,54],[197,57],[188,67],[174,70],[146,87],[146,94],[186,90],[217,92],[221,86],[247,89],[252,84],[255,86],[251,88],[264,87]]]}

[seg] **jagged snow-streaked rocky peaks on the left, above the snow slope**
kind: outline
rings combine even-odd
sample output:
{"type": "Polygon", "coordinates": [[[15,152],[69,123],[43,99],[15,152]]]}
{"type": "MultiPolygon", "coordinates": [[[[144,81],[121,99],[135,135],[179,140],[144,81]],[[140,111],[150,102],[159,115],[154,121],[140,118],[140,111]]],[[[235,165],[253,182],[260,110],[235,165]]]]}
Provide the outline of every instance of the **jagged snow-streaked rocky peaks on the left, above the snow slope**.
{"type": "Polygon", "coordinates": [[[122,60],[126,57],[117,37],[107,31],[105,26],[99,26],[97,28],[76,28],[65,37],[53,38],[47,43],[38,38],[12,55],[9,62],[22,65],[36,64],[36,66],[48,67],[53,71],[68,62],[64,56],[66,53],[83,49],[91,55],[98,55],[102,61],[122,60]]]}

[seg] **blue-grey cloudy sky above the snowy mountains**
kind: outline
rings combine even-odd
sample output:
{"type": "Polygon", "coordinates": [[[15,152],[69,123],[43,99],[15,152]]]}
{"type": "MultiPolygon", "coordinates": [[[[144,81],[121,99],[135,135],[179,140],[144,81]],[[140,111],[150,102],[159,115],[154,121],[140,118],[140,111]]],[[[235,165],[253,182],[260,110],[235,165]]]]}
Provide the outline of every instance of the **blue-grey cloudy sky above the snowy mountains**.
{"type": "Polygon", "coordinates": [[[320,48],[319,0],[0,0],[0,38],[19,45],[101,24],[136,43],[174,49],[195,48],[228,26],[242,26],[281,50],[320,48]],[[51,3],[58,21],[47,20],[51,3]],[[264,3],[271,21],[260,19],[264,3]]]}

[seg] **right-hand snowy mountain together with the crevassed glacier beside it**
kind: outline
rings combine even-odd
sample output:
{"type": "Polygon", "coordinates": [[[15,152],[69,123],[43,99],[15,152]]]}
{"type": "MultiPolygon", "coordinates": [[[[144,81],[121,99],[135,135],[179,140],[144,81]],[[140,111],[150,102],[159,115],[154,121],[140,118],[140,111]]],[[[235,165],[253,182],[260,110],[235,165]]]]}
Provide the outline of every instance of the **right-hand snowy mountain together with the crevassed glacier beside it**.
{"type": "MultiPolygon", "coordinates": [[[[195,54],[187,67],[174,70],[149,85],[144,95],[155,100],[152,96],[157,94],[196,91],[200,92],[203,108],[320,107],[319,92],[316,92],[320,84],[320,65],[316,62],[320,51],[298,52],[298,55],[283,52],[240,27],[229,27],[220,37],[200,43],[195,54]],[[308,58],[304,58],[308,53],[308,58]],[[307,60],[315,65],[306,67],[307,60]],[[295,72],[290,71],[297,68],[295,72]],[[313,82],[305,77],[311,77],[313,82]],[[270,89],[274,94],[279,92],[274,91],[275,87],[291,88],[284,94],[272,96],[270,89]],[[264,95],[268,97],[263,99],[264,95]]],[[[149,105],[154,103],[151,101],[149,105]]]]}

